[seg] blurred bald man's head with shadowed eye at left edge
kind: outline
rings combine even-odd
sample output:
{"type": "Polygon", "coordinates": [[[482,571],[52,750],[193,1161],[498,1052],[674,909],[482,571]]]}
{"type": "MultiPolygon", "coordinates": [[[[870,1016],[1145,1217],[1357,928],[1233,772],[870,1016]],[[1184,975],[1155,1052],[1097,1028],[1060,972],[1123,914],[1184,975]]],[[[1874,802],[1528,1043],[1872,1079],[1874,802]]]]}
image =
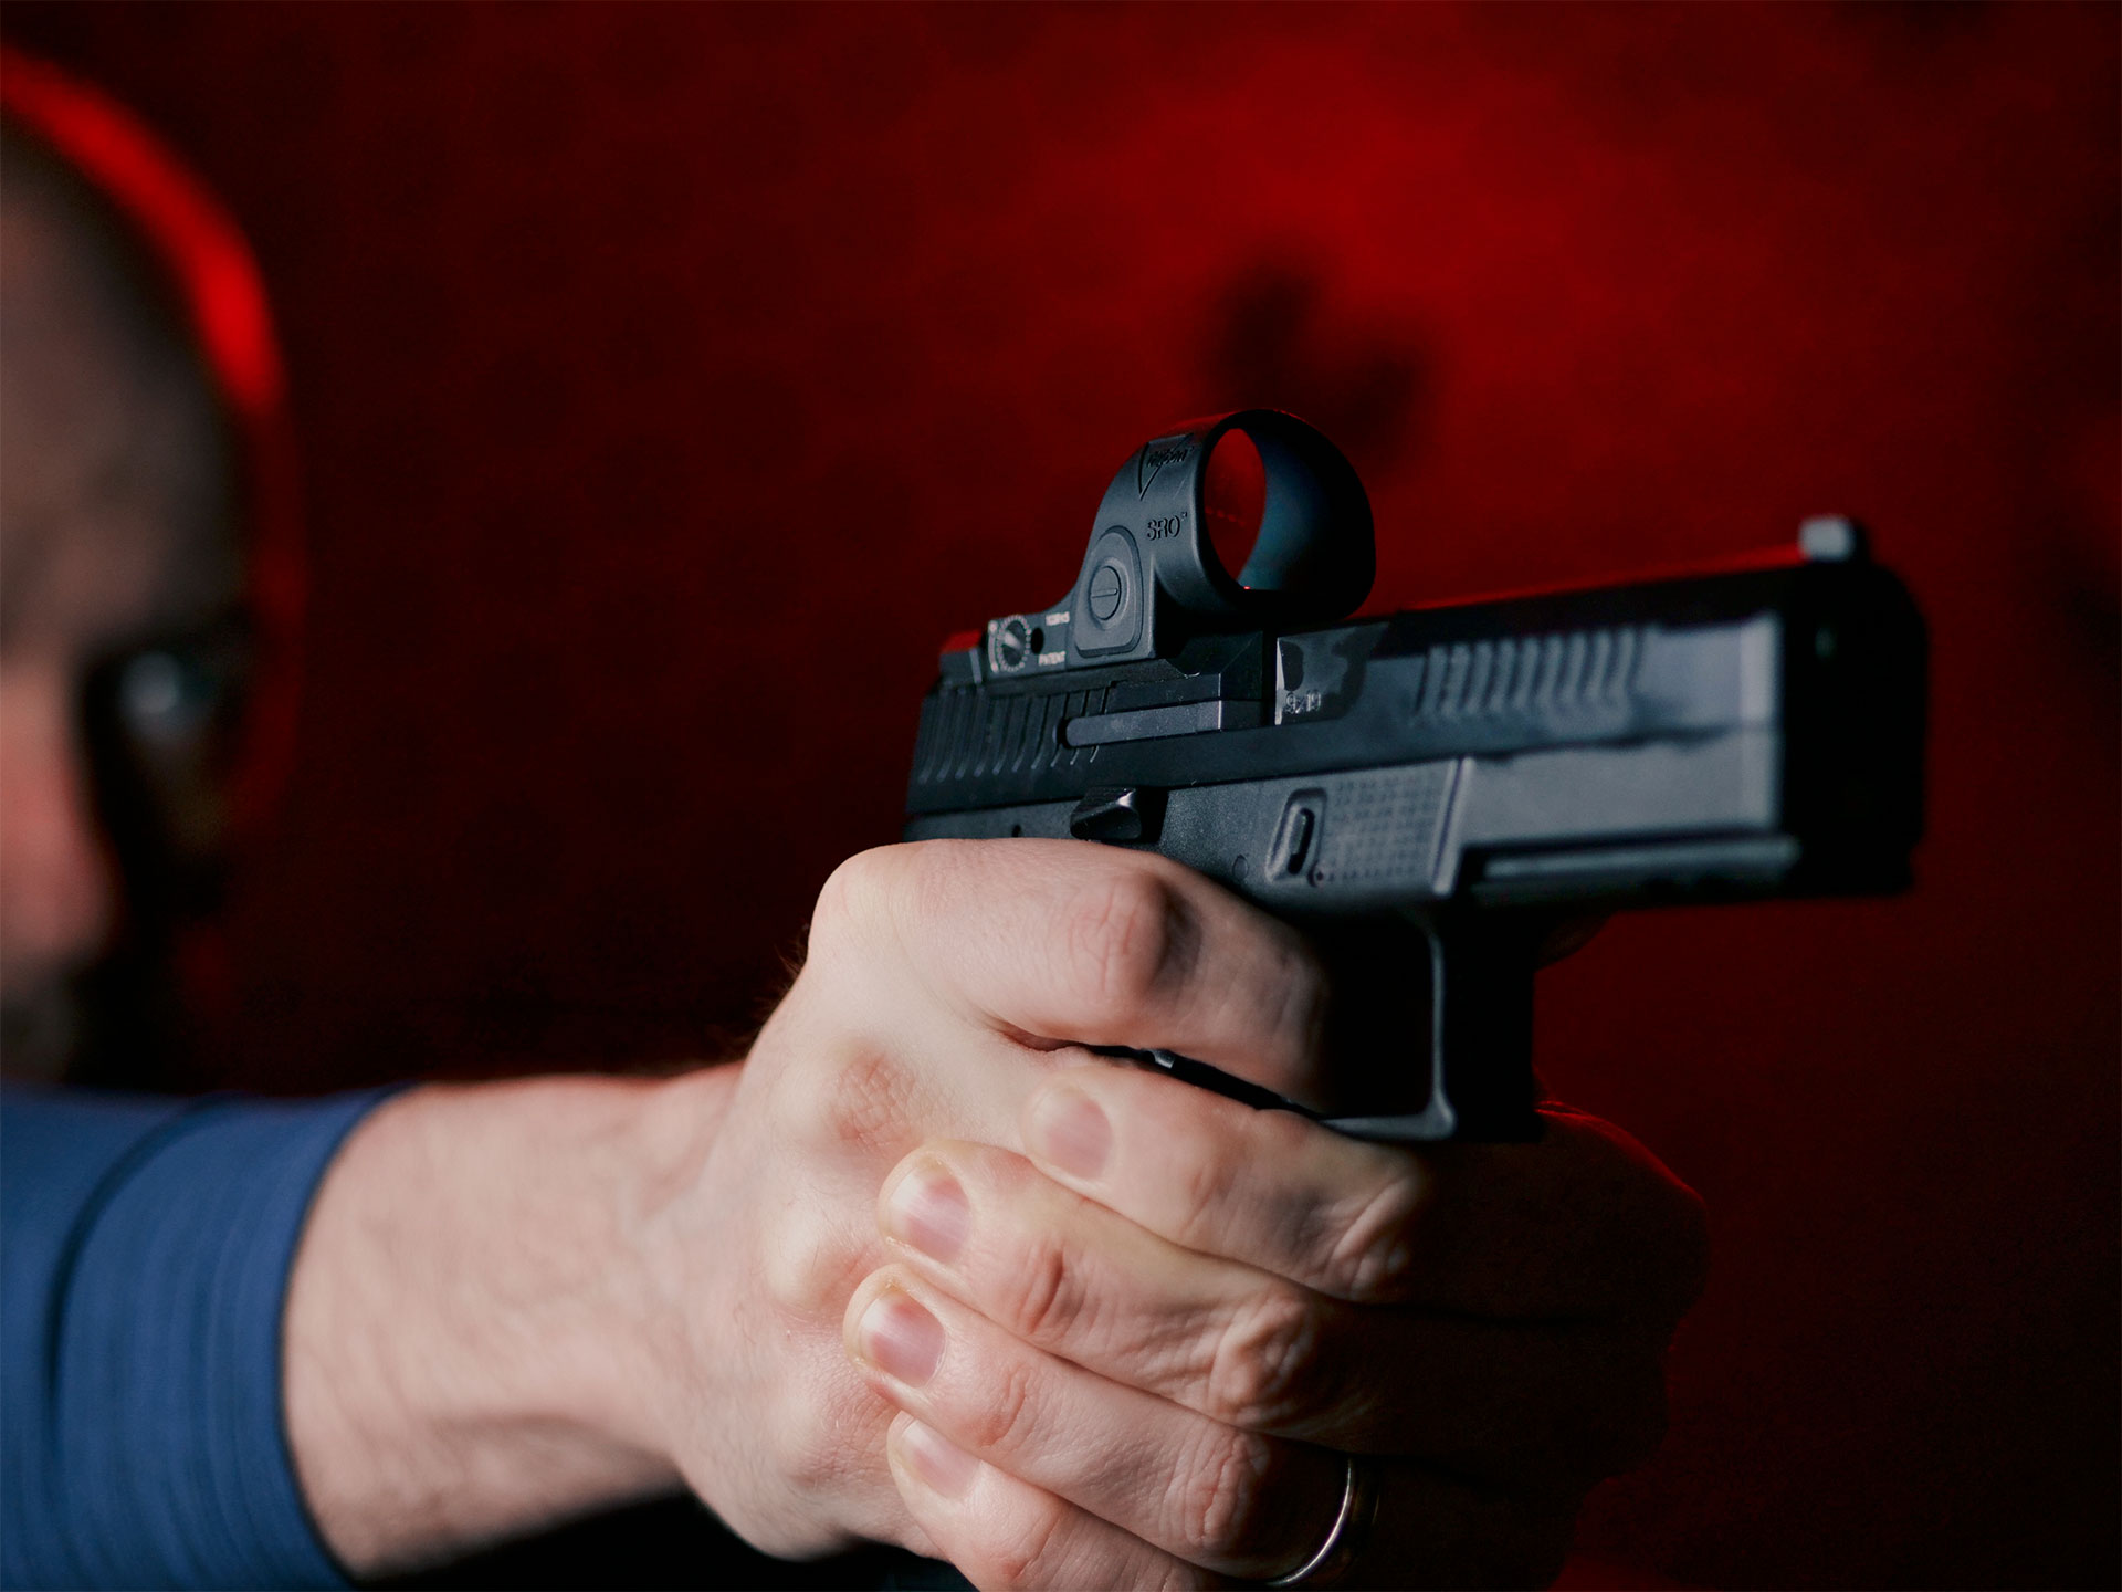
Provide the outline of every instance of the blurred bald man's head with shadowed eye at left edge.
{"type": "Polygon", "coordinates": [[[0,1059],[51,1074],[81,974],[221,851],[244,569],[225,412],[168,270],[19,129],[0,458],[0,1059]]]}

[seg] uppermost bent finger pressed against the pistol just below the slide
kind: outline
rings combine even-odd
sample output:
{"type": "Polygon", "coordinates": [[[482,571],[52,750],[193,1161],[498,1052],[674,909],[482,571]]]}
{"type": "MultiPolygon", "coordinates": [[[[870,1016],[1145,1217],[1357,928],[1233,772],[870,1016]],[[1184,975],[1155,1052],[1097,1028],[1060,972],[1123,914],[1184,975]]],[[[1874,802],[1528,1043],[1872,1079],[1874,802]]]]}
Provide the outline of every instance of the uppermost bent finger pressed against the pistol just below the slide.
{"type": "Polygon", "coordinates": [[[1027,1042],[1182,1051],[1314,1093],[1326,981],[1286,923],[1146,851],[919,841],[842,864],[813,949],[857,936],[902,976],[1027,1042]]]}

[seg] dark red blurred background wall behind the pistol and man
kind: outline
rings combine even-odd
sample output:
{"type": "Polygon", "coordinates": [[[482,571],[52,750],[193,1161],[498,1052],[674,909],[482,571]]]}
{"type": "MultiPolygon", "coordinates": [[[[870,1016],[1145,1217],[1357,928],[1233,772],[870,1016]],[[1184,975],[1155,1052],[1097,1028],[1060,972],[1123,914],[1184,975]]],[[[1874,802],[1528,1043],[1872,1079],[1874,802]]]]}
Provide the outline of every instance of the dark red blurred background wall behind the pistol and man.
{"type": "Polygon", "coordinates": [[[314,652],[238,1083],[743,1029],[934,643],[1161,422],[1292,408],[1379,605],[1874,522],[1935,637],[1893,902],[1613,925],[1562,1093],[1708,1197],[1583,1543],[2114,1586],[2118,13],[81,6],[276,289],[314,652]]]}

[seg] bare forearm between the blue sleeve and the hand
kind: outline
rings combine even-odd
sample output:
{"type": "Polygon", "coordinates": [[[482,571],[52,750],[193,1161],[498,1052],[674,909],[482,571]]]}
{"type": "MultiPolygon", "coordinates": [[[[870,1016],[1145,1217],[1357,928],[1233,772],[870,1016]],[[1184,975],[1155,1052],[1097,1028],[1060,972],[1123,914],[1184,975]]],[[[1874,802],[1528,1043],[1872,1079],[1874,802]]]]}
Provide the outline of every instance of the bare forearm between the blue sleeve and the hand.
{"type": "Polygon", "coordinates": [[[679,1486],[662,1212],[736,1068],[416,1089],[346,1142],[286,1303],[303,1496],[356,1575],[679,1486]]]}

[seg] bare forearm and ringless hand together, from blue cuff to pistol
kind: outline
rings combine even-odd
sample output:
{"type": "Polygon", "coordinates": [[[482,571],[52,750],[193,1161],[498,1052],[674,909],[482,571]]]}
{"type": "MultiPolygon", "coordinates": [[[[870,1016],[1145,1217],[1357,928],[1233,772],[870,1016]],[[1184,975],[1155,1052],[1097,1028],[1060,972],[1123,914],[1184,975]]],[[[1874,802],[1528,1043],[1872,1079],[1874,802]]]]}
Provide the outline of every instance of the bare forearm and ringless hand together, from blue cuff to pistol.
{"type": "Polygon", "coordinates": [[[1294,932],[1159,858],[889,847],[825,885],[743,1068],[386,1104],[318,1191],[286,1310],[327,1541],[376,1573],[683,1479],[768,1552],[934,1552],[840,1342],[889,1259],[893,1163],[1021,1150],[1074,1044],[1301,1078],[1324,1000],[1294,932]]]}

